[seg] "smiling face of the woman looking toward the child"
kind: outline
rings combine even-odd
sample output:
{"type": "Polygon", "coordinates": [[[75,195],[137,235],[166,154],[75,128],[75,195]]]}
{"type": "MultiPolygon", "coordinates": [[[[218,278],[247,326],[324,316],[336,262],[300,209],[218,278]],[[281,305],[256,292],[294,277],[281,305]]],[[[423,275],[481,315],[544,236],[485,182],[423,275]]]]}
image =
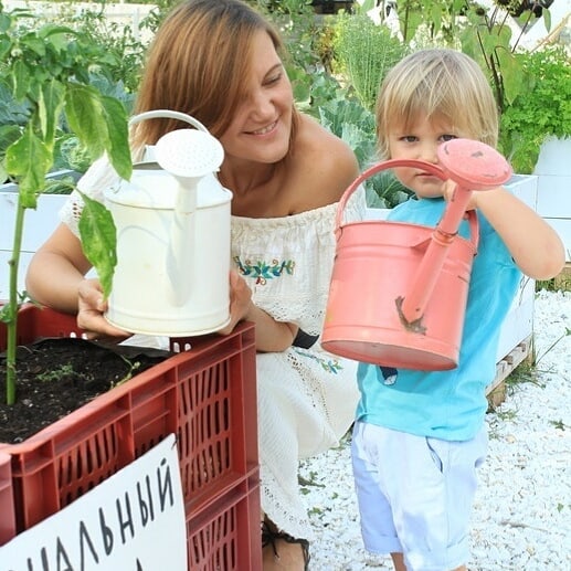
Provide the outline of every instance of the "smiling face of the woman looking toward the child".
{"type": "Polygon", "coordinates": [[[273,163],[289,149],[294,95],[266,32],[254,36],[252,53],[247,98],[235,109],[220,141],[226,157],[273,163]]]}

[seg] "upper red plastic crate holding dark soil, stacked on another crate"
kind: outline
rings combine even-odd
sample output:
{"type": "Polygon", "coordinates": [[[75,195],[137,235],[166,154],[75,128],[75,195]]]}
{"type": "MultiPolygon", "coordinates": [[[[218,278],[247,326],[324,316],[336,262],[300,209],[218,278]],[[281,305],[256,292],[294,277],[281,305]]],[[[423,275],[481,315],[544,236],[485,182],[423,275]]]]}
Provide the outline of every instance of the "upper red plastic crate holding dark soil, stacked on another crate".
{"type": "MultiPolygon", "coordinates": [[[[81,335],[74,317],[22,308],[20,343],[68,335],[81,335]]],[[[170,433],[177,435],[188,518],[257,470],[254,326],[242,324],[228,337],[172,341],[191,347],[23,443],[0,444],[11,456],[15,514],[13,532],[4,529],[0,543],[62,509],[170,433]]],[[[0,324],[0,350],[4,348],[6,326],[0,324]]]]}

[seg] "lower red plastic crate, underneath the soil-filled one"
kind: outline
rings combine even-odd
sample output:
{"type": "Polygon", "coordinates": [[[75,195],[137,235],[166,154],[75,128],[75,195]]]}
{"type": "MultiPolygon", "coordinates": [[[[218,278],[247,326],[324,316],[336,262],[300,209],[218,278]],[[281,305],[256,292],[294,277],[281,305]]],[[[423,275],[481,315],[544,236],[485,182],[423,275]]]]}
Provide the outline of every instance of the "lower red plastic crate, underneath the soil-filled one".
{"type": "Polygon", "coordinates": [[[189,569],[262,569],[258,470],[218,497],[208,509],[187,517],[189,569]]]}

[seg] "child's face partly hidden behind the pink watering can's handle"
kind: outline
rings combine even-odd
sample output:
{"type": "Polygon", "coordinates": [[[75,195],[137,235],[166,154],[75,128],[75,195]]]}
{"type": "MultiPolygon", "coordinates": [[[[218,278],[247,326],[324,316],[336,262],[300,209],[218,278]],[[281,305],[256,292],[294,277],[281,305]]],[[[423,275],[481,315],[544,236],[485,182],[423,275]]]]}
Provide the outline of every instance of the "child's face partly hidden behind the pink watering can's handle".
{"type": "MultiPolygon", "coordinates": [[[[436,149],[444,141],[465,137],[444,121],[419,117],[404,127],[394,125],[389,128],[388,141],[391,159],[415,159],[438,165],[436,149]]],[[[422,168],[399,167],[396,178],[417,197],[436,198],[444,193],[444,181],[423,171],[422,168]]]]}

